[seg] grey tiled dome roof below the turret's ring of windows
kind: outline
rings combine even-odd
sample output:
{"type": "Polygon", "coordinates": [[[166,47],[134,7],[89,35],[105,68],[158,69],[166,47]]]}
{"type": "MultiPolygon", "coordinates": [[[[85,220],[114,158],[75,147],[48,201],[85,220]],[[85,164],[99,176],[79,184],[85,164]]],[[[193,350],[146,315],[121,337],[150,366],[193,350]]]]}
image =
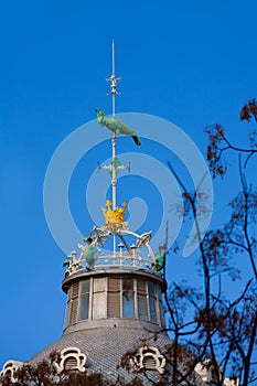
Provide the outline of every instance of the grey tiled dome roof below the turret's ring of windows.
{"type": "MultiPolygon", "coordinates": [[[[62,352],[64,349],[77,347],[82,354],[86,355],[85,368],[87,372],[101,373],[114,382],[117,379],[129,382],[136,376],[142,378],[143,376],[140,373],[130,373],[121,368],[122,355],[140,347],[154,347],[162,354],[170,344],[171,340],[167,333],[160,332],[159,328],[149,322],[120,319],[108,320],[108,324],[106,321],[94,321],[94,324],[89,323],[89,325],[82,322],[74,332],[64,334],[32,357],[29,363],[47,360],[53,351],[62,352]]],[[[152,380],[157,380],[161,375],[158,371],[148,371],[148,373],[152,380]]]]}

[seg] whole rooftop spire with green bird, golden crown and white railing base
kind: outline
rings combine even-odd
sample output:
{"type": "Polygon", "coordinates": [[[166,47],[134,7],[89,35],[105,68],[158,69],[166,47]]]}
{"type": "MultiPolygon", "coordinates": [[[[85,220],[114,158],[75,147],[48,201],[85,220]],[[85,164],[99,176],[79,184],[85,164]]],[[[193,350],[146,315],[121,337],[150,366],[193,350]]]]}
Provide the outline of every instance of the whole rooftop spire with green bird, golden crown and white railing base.
{"type": "Polygon", "coordinates": [[[76,258],[77,253],[72,251],[68,259],[64,261],[66,267],[65,276],[73,275],[81,269],[92,270],[114,266],[122,269],[144,269],[159,276],[163,271],[163,246],[154,255],[150,245],[151,230],[141,235],[130,230],[128,223],[125,221],[127,203],[122,203],[120,207],[116,205],[117,174],[119,170],[128,169],[130,171],[130,163],[128,167],[125,167],[116,157],[117,136],[130,136],[137,146],[141,144],[137,132],[115,117],[115,97],[120,94],[117,92],[117,82],[120,79],[120,77],[117,78],[115,76],[115,42],[113,41],[113,74],[106,79],[110,82],[110,93],[108,95],[113,96],[113,116],[106,117],[103,110],[96,109],[97,122],[113,133],[110,139],[113,148],[111,161],[109,164],[104,165],[100,165],[98,162],[97,168],[98,171],[103,169],[111,174],[113,197],[111,201],[106,201],[106,207],[101,207],[105,225],[94,226],[89,236],[84,238],[85,245],[78,244],[81,249],[78,258],[76,258]],[[127,236],[136,238],[136,243],[129,246],[126,240],[127,236]],[[113,253],[103,249],[109,237],[113,238],[113,253]],[[119,239],[118,245],[117,238],[119,239]],[[117,247],[119,250],[117,250],[117,247]],[[124,248],[125,250],[122,250],[124,248]]]}

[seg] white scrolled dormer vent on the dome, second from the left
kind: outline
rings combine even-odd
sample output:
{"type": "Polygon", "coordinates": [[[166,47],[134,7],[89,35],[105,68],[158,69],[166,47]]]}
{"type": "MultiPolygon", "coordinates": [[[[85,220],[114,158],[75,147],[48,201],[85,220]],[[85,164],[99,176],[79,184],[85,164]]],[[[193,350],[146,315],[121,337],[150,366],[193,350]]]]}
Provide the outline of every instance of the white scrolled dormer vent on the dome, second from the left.
{"type": "Polygon", "coordinates": [[[66,347],[61,351],[60,363],[54,363],[57,373],[64,369],[78,369],[84,373],[86,371],[85,364],[87,361],[86,354],[82,353],[77,347],[66,347]]]}

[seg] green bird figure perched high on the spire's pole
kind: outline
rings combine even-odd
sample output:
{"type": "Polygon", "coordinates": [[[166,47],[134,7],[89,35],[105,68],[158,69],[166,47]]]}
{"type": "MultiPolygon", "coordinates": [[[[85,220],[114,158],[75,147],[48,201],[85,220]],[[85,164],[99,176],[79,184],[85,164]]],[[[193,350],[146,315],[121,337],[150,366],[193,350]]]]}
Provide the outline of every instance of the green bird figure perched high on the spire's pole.
{"type": "Polygon", "coordinates": [[[121,122],[121,120],[116,119],[114,117],[107,118],[103,110],[96,109],[96,114],[97,114],[97,122],[100,126],[107,127],[107,129],[113,131],[115,136],[118,136],[119,133],[131,136],[136,144],[138,146],[141,144],[137,136],[137,132],[130,129],[130,127],[128,127],[126,124],[121,122]]]}

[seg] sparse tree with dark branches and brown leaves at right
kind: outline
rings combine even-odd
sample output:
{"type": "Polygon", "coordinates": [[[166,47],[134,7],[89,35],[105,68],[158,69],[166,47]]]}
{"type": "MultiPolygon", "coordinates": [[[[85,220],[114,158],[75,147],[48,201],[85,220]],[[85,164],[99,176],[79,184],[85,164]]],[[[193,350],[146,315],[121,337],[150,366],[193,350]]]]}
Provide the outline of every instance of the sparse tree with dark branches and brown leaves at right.
{"type": "MultiPolygon", "coordinates": [[[[240,111],[240,119],[257,121],[256,99],[249,100],[240,111]]],[[[239,379],[240,386],[257,382],[257,366],[254,353],[257,349],[257,289],[251,277],[247,283],[238,285],[237,297],[227,296],[228,276],[233,280],[239,278],[236,267],[240,255],[253,268],[257,279],[257,190],[247,183],[248,161],[257,153],[257,130],[249,133],[249,147],[234,146],[227,138],[222,125],[213,125],[205,129],[208,137],[207,162],[213,179],[224,178],[227,171],[226,152],[238,156],[239,193],[228,203],[231,214],[225,225],[210,230],[202,239],[197,227],[199,216],[203,208],[197,205],[200,192],[189,193],[175,171],[169,167],[182,189],[184,212],[195,221],[200,242],[197,265],[203,286],[191,288],[190,283],[173,285],[167,296],[169,311],[169,332],[174,341],[173,354],[180,356],[181,345],[189,353],[186,357],[188,374],[192,374],[197,362],[207,362],[215,373],[215,385],[224,385],[224,376],[229,372],[232,379],[239,379]],[[240,253],[240,255],[238,254],[240,253]],[[219,365],[221,364],[221,368],[219,365]]],[[[203,200],[204,201],[204,200],[203,200]]],[[[242,257],[240,257],[242,258],[242,257]]],[[[173,384],[181,385],[179,362],[171,358],[174,368],[173,384]]],[[[188,382],[189,378],[185,379],[188,382]]],[[[189,382],[190,385],[190,382],[189,382]]]]}

